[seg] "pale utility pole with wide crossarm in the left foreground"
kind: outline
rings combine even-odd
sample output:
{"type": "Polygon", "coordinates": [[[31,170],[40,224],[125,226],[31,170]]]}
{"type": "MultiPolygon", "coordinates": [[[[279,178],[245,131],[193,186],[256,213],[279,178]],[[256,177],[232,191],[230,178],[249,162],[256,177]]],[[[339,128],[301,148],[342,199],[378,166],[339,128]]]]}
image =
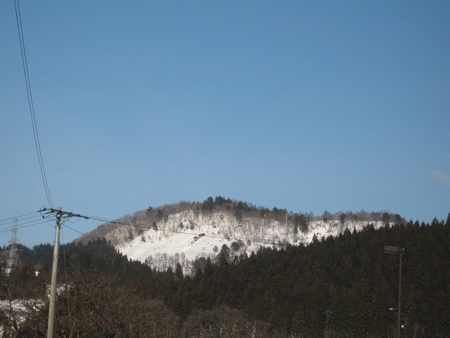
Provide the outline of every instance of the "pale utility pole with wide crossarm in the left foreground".
{"type": "Polygon", "coordinates": [[[57,209],[45,208],[45,211],[49,213],[56,213],[56,225],[55,225],[55,244],[53,246],[53,264],[52,264],[52,284],[50,288],[50,306],[48,308],[48,326],[47,326],[47,338],[53,338],[53,326],[55,321],[55,300],[56,300],[56,277],[58,275],[58,253],[59,253],[59,237],[61,234],[61,219],[63,216],[69,217],[82,217],[88,219],[89,217],[82,216],[80,214],[74,214],[67,211],[62,211],[61,207],[57,209]]]}

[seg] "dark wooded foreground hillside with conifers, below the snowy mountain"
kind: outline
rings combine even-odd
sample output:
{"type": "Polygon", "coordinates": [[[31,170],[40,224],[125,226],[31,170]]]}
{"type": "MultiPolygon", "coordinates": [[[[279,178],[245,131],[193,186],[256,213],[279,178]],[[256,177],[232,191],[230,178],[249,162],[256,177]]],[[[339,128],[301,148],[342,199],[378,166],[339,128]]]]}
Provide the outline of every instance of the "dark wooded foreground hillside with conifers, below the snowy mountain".
{"type": "MultiPolygon", "coordinates": [[[[104,240],[63,245],[55,334],[393,337],[399,259],[384,254],[385,245],[405,250],[402,336],[450,337],[450,214],[431,224],[368,226],[307,246],[219,255],[198,261],[193,276],[180,266],[152,270],[104,240]]],[[[0,298],[27,299],[27,320],[3,311],[1,324],[11,336],[45,336],[52,247],[20,249],[17,268],[1,274],[0,298]]]]}

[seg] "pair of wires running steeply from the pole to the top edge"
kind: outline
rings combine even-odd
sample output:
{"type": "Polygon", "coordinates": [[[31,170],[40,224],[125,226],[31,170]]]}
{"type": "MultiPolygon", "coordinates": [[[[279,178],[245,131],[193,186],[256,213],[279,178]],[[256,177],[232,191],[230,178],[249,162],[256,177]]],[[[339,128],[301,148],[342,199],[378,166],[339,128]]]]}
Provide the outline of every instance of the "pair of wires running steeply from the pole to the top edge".
{"type": "Polygon", "coordinates": [[[33,95],[31,91],[30,74],[28,71],[27,53],[25,49],[25,40],[22,29],[22,17],[20,15],[19,0],[14,0],[14,9],[16,12],[17,31],[19,33],[20,52],[22,55],[23,73],[25,76],[25,86],[27,91],[28,108],[30,110],[31,125],[33,127],[34,144],[36,146],[36,152],[38,156],[39,169],[41,171],[42,183],[44,184],[45,195],[47,196],[47,202],[50,206],[53,206],[52,198],[50,196],[50,189],[48,188],[47,175],[45,174],[44,160],[42,158],[41,144],[39,141],[39,133],[36,123],[36,115],[34,113],[33,95]]]}

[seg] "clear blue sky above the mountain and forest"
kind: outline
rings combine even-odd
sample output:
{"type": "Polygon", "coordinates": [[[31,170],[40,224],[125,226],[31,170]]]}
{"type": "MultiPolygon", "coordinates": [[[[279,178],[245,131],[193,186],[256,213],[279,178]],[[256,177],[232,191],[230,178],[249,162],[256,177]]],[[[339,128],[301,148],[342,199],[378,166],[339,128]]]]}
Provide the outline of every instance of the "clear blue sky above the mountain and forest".
{"type": "MultiPolygon", "coordinates": [[[[315,215],[450,212],[449,1],[20,9],[54,207],[115,219],[220,195],[315,215]]],[[[0,2],[0,32],[5,220],[49,205],[13,0],[0,2]]],[[[0,245],[11,224],[0,223],[0,245]]],[[[18,225],[22,244],[53,242],[51,221],[18,225]]],[[[78,236],[63,228],[63,242],[78,236]]]]}

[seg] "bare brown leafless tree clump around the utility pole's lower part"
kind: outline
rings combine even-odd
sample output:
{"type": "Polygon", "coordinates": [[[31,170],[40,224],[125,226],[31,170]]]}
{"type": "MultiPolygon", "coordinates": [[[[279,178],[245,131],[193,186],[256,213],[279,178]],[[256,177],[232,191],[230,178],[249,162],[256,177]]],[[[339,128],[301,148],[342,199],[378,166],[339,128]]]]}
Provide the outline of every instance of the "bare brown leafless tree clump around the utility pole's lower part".
{"type": "MultiPolygon", "coordinates": [[[[178,317],[162,301],[140,298],[120,286],[118,277],[78,271],[64,289],[56,304],[54,332],[59,337],[177,335],[178,317]]],[[[31,316],[19,328],[19,335],[45,334],[42,313],[31,316]]]]}

